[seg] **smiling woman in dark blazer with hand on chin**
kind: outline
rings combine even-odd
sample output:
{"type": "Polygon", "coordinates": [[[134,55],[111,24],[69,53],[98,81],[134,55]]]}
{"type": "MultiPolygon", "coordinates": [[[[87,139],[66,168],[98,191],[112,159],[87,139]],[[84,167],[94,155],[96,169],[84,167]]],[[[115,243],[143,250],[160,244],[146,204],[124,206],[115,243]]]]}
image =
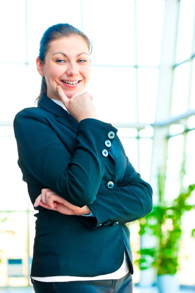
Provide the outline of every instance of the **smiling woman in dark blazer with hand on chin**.
{"type": "Polygon", "coordinates": [[[90,49],[73,26],[49,27],[37,58],[38,107],[14,120],[18,164],[39,211],[31,270],[36,293],[132,292],[126,223],[152,209],[151,186],[84,92],[90,49]]]}

